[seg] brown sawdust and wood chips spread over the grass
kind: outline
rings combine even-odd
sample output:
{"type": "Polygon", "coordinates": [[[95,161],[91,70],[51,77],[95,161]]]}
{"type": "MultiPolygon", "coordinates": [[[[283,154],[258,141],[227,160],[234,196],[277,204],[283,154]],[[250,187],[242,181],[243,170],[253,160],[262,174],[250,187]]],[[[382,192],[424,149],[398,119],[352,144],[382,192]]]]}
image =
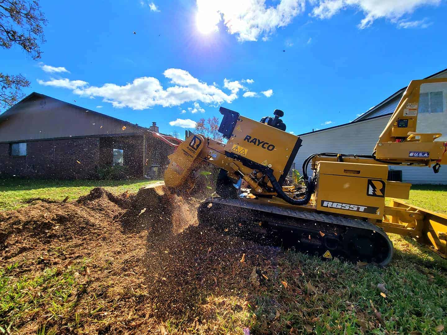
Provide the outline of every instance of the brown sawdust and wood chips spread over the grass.
{"type": "Polygon", "coordinates": [[[199,228],[198,204],[162,190],[117,196],[94,188],[77,201],[34,200],[0,213],[1,267],[15,264],[11,281],[44,281],[21,302],[36,305],[31,314],[16,318],[13,304],[0,318],[12,319],[18,333],[45,326],[56,333],[153,334],[170,318],[183,320],[179,329],[210,333],[216,298],[235,296],[246,311],[249,293],[240,292],[257,290],[278,249],[199,228]],[[63,278],[74,283],[64,286],[63,278]],[[56,292],[64,290],[61,300],[56,292]]]}

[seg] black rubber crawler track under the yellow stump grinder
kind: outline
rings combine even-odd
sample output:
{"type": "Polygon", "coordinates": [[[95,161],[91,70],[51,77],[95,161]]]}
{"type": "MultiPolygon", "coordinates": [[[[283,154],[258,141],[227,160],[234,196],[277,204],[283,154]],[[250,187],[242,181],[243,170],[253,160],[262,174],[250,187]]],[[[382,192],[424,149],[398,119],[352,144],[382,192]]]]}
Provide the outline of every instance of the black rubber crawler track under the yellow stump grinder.
{"type": "Polygon", "coordinates": [[[322,258],[387,265],[392,242],[378,226],[361,220],[262,205],[248,199],[208,199],[198,208],[200,226],[212,226],[263,244],[279,244],[322,258]]]}

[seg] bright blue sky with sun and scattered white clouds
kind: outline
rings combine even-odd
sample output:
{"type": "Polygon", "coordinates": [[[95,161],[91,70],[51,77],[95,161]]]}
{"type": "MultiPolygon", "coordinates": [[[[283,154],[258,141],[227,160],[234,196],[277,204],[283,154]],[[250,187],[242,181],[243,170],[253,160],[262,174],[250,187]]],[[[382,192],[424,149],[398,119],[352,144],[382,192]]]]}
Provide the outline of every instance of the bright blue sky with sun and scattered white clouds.
{"type": "Polygon", "coordinates": [[[156,121],[163,133],[220,118],[220,105],[255,120],[282,109],[287,131],[305,133],[349,122],[447,67],[445,0],[41,0],[41,7],[42,59],[0,50],[2,71],[25,75],[26,94],[142,126],[156,121]]]}

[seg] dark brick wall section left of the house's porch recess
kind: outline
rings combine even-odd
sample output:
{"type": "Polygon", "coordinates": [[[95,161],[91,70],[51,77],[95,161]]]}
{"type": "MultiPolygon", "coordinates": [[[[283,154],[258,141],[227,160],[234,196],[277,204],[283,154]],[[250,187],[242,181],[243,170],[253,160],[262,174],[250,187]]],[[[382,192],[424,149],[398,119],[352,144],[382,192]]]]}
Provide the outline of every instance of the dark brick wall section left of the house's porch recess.
{"type": "Polygon", "coordinates": [[[93,178],[99,155],[98,137],[28,141],[26,156],[19,157],[10,155],[9,143],[0,143],[0,177],[93,178]]]}

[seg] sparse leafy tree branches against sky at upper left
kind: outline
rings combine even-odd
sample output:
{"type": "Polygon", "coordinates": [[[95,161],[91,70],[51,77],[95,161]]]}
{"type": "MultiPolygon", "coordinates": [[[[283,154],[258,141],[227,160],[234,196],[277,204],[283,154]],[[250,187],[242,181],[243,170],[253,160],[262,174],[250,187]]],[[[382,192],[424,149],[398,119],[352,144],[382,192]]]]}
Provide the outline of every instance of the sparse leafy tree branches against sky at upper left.
{"type": "MultiPolygon", "coordinates": [[[[42,56],[39,43],[45,42],[46,18],[38,0],[0,0],[0,46],[20,46],[33,59],[42,56]]],[[[0,73],[0,106],[9,107],[21,99],[22,87],[30,86],[23,75],[0,73]]]]}

